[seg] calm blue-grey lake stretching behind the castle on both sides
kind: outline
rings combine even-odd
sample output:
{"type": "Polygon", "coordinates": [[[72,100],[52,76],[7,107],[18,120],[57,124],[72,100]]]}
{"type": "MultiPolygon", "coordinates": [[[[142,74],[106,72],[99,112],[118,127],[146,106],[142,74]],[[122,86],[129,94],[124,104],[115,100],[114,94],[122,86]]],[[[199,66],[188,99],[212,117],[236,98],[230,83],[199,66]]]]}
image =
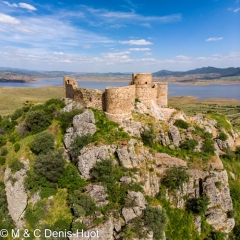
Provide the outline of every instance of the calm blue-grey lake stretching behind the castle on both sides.
{"type": "MultiPolygon", "coordinates": [[[[78,86],[103,90],[107,86],[119,87],[127,85],[127,82],[88,82],[79,81],[78,86]]],[[[33,83],[10,83],[0,82],[1,87],[43,87],[63,86],[62,78],[43,78],[33,83]]],[[[213,84],[213,85],[181,85],[169,84],[169,97],[174,96],[195,96],[199,99],[205,98],[232,98],[240,100],[240,84],[213,84]]]]}

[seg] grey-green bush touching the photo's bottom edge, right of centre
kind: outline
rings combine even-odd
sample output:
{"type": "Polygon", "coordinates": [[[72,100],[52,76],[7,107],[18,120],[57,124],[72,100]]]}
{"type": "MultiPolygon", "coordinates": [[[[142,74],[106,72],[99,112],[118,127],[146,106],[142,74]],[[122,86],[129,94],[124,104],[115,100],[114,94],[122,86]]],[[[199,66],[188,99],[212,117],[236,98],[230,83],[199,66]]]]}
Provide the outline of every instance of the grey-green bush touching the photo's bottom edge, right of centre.
{"type": "Polygon", "coordinates": [[[167,224],[167,215],[164,209],[147,206],[144,210],[144,223],[153,231],[154,239],[162,239],[167,224]]]}

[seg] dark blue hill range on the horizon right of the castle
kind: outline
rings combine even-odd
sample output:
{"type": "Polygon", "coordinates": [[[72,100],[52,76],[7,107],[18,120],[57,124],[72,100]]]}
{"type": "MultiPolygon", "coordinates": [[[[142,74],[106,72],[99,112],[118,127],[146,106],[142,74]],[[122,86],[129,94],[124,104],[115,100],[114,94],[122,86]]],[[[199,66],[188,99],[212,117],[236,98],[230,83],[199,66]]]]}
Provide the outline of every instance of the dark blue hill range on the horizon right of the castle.
{"type": "Polygon", "coordinates": [[[194,75],[194,74],[217,74],[219,77],[240,76],[240,68],[239,67],[238,68],[203,67],[203,68],[196,68],[194,70],[189,70],[185,72],[161,70],[153,73],[153,76],[154,77],[167,77],[167,76],[182,77],[185,75],[194,75]]]}

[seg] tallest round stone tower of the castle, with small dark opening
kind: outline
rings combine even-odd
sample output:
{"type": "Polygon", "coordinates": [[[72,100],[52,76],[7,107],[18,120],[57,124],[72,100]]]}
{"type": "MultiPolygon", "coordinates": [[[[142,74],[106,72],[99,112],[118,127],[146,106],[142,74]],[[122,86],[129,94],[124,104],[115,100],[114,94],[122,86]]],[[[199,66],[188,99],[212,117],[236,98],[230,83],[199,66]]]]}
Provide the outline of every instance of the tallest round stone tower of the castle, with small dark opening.
{"type": "Polygon", "coordinates": [[[148,105],[151,100],[156,100],[156,89],[152,85],[151,73],[132,74],[131,84],[135,85],[135,98],[148,105]]]}

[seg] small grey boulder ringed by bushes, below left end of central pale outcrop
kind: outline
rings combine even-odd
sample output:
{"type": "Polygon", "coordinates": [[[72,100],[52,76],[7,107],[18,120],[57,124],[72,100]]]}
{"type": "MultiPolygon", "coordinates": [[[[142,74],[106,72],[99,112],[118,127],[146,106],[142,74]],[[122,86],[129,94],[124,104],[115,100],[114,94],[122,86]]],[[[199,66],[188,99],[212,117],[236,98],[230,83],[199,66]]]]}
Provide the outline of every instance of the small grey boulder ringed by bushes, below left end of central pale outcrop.
{"type": "Polygon", "coordinates": [[[93,198],[94,202],[98,207],[108,204],[108,195],[106,194],[105,188],[102,185],[89,184],[86,187],[86,193],[93,198]]]}

